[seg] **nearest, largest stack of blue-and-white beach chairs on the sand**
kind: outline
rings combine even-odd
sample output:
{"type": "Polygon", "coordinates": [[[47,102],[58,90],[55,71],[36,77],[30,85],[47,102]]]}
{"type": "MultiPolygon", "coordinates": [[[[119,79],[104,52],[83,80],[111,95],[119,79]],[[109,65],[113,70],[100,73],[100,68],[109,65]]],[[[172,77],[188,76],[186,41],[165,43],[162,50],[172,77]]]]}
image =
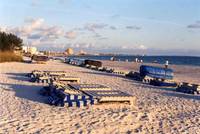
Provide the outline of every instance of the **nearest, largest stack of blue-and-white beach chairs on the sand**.
{"type": "Polygon", "coordinates": [[[55,106],[83,107],[103,102],[128,102],[134,105],[136,99],[127,93],[100,84],[53,82],[46,91],[50,94],[48,103],[55,106]]]}

